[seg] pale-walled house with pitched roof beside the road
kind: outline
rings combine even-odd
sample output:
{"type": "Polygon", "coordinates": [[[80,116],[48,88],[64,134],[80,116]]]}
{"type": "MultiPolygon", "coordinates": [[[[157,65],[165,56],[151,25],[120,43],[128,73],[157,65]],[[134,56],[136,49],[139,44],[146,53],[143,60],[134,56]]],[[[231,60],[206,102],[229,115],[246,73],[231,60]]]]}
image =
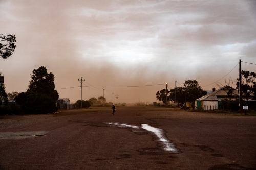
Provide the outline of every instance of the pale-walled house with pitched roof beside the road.
{"type": "Polygon", "coordinates": [[[196,99],[195,105],[197,108],[200,108],[200,109],[215,110],[220,107],[221,100],[223,99],[235,100],[238,98],[239,98],[238,90],[230,86],[224,86],[218,90],[215,90],[215,88],[213,88],[211,93],[208,93],[202,96],[201,98],[196,99]],[[230,90],[232,92],[229,95],[227,95],[230,90]]]}

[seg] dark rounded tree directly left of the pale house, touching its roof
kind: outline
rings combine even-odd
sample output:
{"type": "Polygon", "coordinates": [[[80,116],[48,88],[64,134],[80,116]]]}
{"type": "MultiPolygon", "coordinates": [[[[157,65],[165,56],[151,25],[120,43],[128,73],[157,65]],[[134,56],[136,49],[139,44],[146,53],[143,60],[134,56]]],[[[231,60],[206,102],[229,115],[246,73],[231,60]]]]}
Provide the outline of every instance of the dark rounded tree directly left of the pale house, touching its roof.
{"type": "Polygon", "coordinates": [[[184,88],[187,102],[193,102],[207,94],[207,92],[204,91],[201,86],[199,86],[196,80],[186,80],[183,84],[185,86],[184,88]]]}

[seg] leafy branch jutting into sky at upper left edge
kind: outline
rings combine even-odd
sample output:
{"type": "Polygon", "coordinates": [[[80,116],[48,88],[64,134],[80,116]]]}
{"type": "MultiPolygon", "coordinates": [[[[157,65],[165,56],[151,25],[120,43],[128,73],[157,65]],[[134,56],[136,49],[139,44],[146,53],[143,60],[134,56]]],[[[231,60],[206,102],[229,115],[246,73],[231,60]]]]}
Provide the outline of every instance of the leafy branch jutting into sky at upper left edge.
{"type": "Polygon", "coordinates": [[[6,44],[0,43],[0,58],[7,59],[12,55],[12,52],[14,52],[16,45],[14,42],[16,42],[16,36],[15,35],[7,35],[4,36],[3,34],[0,34],[0,42],[4,41],[6,44]]]}

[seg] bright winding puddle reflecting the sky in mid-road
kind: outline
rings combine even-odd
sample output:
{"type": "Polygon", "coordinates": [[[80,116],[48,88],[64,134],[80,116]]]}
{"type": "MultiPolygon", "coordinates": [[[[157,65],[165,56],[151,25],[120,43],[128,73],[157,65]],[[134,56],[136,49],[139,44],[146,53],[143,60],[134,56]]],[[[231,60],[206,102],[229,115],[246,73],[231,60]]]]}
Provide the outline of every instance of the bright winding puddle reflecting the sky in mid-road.
{"type": "Polygon", "coordinates": [[[128,125],[128,124],[112,123],[112,122],[106,122],[106,124],[115,125],[123,128],[141,129],[140,131],[143,131],[142,129],[144,129],[146,131],[153,132],[158,137],[158,141],[164,146],[163,147],[164,151],[170,152],[170,153],[179,153],[179,149],[177,149],[175,145],[170,140],[167,139],[162,129],[154,128],[148,124],[142,124],[141,127],[128,125]]]}

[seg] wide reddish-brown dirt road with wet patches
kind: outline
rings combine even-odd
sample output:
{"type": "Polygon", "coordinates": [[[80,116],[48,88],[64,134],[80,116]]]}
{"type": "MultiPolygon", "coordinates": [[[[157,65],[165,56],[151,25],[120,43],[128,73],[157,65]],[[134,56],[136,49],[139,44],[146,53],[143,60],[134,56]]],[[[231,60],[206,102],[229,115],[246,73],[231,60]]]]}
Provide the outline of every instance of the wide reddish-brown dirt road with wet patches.
{"type": "Polygon", "coordinates": [[[256,169],[256,117],[153,107],[2,116],[0,169],[256,169]]]}

